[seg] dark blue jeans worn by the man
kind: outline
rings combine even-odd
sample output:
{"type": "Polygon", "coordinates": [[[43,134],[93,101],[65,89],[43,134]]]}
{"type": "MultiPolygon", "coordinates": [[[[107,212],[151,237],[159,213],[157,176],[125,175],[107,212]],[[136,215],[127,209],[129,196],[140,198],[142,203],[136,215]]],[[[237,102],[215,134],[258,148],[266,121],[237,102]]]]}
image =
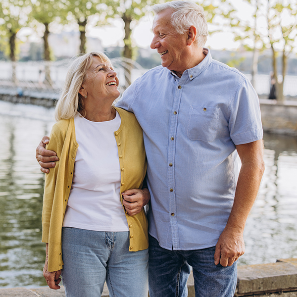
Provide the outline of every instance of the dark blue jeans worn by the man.
{"type": "Polygon", "coordinates": [[[149,236],[148,285],[150,297],[187,297],[190,265],[193,267],[196,297],[233,297],[237,283],[237,262],[223,267],[214,264],[215,247],[168,250],[149,236]]]}

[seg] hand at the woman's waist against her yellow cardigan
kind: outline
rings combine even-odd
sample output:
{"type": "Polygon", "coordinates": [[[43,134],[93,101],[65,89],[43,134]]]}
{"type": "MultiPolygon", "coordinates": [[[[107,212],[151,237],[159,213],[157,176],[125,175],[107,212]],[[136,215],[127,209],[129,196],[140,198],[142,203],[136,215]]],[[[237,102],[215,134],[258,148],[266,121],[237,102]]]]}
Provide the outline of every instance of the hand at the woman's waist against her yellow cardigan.
{"type": "Polygon", "coordinates": [[[139,213],[148,204],[150,194],[148,189],[131,189],[122,193],[123,205],[129,215],[139,213]]]}

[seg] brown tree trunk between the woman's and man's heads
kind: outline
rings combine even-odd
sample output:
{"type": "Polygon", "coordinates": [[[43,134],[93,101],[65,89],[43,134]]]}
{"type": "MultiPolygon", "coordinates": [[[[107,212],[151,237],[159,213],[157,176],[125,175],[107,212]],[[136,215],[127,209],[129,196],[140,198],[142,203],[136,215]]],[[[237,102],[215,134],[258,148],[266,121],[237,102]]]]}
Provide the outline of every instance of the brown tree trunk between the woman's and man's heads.
{"type": "MultiPolygon", "coordinates": [[[[123,57],[129,60],[133,57],[132,52],[132,44],[131,44],[131,33],[132,30],[130,29],[130,24],[132,18],[130,15],[126,13],[123,14],[122,20],[124,21],[124,30],[125,30],[125,37],[124,37],[124,50],[123,50],[123,57]]],[[[131,85],[131,71],[133,68],[133,64],[130,61],[124,61],[123,68],[125,72],[125,88],[128,88],[131,85]]]]}

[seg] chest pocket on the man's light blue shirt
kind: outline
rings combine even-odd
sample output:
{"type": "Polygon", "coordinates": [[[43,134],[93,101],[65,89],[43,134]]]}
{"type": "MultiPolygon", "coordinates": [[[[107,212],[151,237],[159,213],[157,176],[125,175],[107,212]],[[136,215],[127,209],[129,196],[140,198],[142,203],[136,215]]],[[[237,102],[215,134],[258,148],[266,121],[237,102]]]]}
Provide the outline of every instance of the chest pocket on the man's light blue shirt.
{"type": "Polygon", "coordinates": [[[204,142],[214,141],[218,129],[219,112],[220,108],[218,107],[191,105],[187,128],[189,139],[204,142]]]}

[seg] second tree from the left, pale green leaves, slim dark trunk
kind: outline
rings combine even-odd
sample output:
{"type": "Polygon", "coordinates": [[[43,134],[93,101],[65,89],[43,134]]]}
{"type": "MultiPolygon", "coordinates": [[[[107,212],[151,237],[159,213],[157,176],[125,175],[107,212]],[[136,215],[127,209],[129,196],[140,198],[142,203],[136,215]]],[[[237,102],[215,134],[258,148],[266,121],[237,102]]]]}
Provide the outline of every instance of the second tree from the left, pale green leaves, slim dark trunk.
{"type": "Polygon", "coordinates": [[[58,0],[38,0],[32,5],[32,16],[33,18],[42,23],[45,27],[43,41],[44,41],[44,60],[46,61],[45,65],[45,82],[52,85],[50,78],[50,69],[48,62],[51,60],[50,49],[49,49],[49,25],[57,17],[62,17],[63,4],[58,0]]]}

